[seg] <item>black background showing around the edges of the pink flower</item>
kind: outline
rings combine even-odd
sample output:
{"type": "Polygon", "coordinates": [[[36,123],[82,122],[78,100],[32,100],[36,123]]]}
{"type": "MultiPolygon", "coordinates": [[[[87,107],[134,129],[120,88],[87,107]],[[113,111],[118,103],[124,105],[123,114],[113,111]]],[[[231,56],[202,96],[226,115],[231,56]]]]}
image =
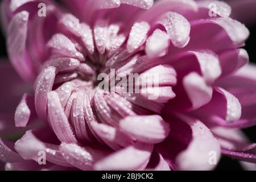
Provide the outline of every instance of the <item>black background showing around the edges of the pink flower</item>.
{"type": "MultiPolygon", "coordinates": [[[[248,27],[250,30],[250,37],[246,41],[245,49],[249,53],[250,62],[256,63],[256,23],[248,27]]],[[[6,42],[5,37],[3,36],[2,32],[0,31],[0,59],[7,57],[6,52],[6,42]]],[[[255,110],[256,112],[256,110],[255,110]]],[[[247,137],[251,140],[251,142],[256,142],[256,126],[250,127],[248,129],[243,130],[245,131],[247,137]]],[[[228,157],[222,157],[220,164],[218,164],[216,170],[240,170],[242,169],[237,162],[237,160],[230,159],[228,157]]]]}

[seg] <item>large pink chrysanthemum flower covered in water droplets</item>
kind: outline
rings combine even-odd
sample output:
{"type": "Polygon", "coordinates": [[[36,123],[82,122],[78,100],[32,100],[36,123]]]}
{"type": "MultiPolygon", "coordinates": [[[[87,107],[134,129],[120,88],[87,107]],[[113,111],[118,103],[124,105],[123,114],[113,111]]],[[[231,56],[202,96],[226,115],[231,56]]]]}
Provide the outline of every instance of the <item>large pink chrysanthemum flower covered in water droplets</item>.
{"type": "Polygon", "coordinates": [[[63,2],[2,3],[9,59],[28,83],[1,66],[1,84],[10,85],[0,88],[6,169],[209,170],[221,154],[253,168],[255,144],[239,129],[256,123],[256,67],[240,48],[249,31],[229,17],[229,5],[63,2]],[[39,16],[43,5],[46,16],[39,16]],[[133,83],[139,93],[123,92],[119,82],[100,88],[98,75],[111,82],[112,69],[114,76],[158,75],[158,86],[129,80],[123,85],[133,83]]]}

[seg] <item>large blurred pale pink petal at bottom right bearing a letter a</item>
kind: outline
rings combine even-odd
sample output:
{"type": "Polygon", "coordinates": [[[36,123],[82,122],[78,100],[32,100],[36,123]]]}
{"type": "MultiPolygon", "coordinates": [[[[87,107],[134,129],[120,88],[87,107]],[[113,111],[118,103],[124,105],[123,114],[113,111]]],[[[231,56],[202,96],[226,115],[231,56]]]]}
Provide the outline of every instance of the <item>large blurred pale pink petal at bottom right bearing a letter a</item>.
{"type": "Polygon", "coordinates": [[[177,155],[176,163],[181,170],[210,170],[215,167],[209,163],[209,152],[215,152],[216,162],[220,159],[220,144],[210,130],[200,121],[181,117],[191,126],[192,141],[187,149],[177,155]]]}

